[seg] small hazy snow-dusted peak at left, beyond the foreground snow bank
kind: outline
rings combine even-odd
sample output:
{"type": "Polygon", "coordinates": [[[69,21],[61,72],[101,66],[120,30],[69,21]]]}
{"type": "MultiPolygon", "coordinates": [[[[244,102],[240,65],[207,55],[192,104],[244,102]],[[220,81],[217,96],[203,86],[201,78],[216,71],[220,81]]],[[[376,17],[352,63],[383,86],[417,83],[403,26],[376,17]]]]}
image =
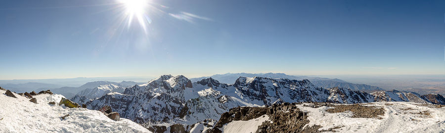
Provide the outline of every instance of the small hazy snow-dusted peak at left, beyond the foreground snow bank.
{"type": "Polygon", "coordinates": [[[71,100],[76,103],[87,103],[90,100],[100,98],[111,92],[123,93],[124,90],[125,90],[124,87],[117,86],[114,84],[100,85],[98,87],[92,89],[85,89],[77,93],[71,100]]]}

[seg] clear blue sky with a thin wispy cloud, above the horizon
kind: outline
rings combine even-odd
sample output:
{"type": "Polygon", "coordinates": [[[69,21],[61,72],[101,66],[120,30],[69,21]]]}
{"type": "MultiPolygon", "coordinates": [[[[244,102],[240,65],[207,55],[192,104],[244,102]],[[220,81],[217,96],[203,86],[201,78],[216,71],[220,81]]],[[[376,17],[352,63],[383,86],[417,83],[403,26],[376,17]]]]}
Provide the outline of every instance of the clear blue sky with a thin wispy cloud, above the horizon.
{"type": "Polygon", "coordinates": [[[444,0],[146,3],[1,0],[0,79],[445,74],[444,0]]]}

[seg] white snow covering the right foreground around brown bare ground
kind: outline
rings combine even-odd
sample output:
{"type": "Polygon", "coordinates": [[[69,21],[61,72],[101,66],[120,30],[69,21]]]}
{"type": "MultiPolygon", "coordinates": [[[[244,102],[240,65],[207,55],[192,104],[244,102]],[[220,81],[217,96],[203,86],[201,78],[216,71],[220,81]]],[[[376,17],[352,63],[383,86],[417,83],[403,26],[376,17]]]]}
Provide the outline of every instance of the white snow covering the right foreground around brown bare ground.
{"type": "MultiPolygon", "coordinates": [[[[310,103],[304,103],[310,104],[310,103]]],[[[352,112],[328,113],[330,108],[318,108],[297,105],[301,111],[309,112],[310,123],[306,125],[320,125],[319,130],[334,127],[340,133],[445,133],[445,107],[436,108],[419,105],[414,102],[371,102],[369,106],[383,107],[386,111],[383,119],[351,118],[352,112]],[[411,108],[411,109],[408,109],[411,108]],[[429,111],[430,116],[415,114],[429,111]]]]}

